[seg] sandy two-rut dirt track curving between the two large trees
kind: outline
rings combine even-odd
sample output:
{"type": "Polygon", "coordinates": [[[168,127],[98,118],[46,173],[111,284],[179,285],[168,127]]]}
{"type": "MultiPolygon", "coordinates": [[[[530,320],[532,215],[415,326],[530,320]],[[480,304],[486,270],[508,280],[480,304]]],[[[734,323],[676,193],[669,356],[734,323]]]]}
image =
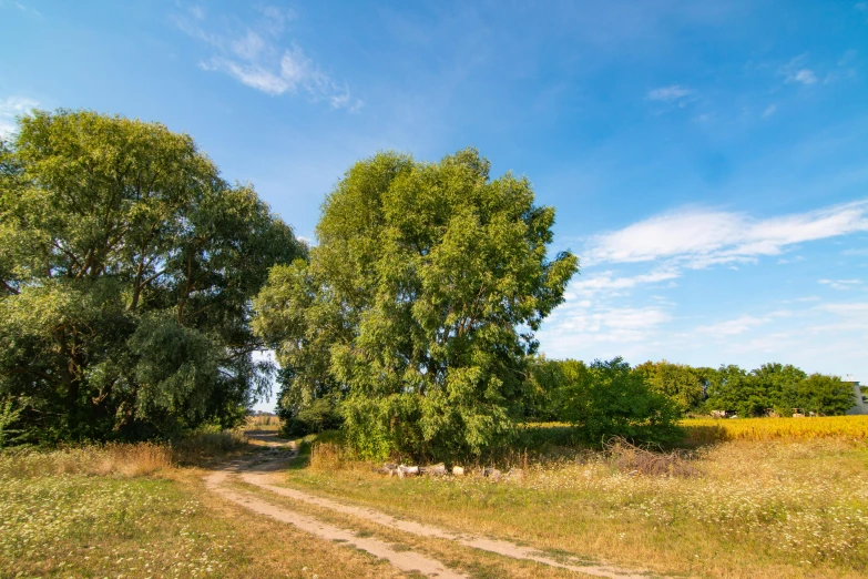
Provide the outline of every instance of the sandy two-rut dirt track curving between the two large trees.
{"type": "Polygon", "coordinates": [[[279,471],[286,466],[288,460],[292,460],[292,458],[295,456],[295,453],[287,453],[285,449],[282,450],[280,447],[288,448],[288,444],[280,441],[274,433],[256,431],[247,433],[247,435],[251,438],[254,438],[257,444],[268,447],[268,449],[256,458],[236,461],[234,464],[227,465],[223,470],[216,470],[210,474],[206,477],[206,484],[210,489],[256,512],[267,515],[284,522],[289,522],[305,531],[312,532],[325,539],[347,541],[347,545],[357,547],[370,552],[371,555],[389,560],[398,569],[406,571],[416,570],[428,577],[466,577],[464,575],[458,573],[457,571],[447,569],[439,561],[436,561],[421,553],[415,553],[412,551],[396,551],[388,544],[377,539],[356,537],[355,534],[350,530],[340,529],[329,524],[325,524],[307,515],[293,512],[292,510],[288,510],[284,507],[269,505],[259,498],[239,495],[238,492],[224,488],[221,485],[229,476],[229,473],[236,473],[237,476],[245,482],[255,485],[262,489],[274,492],[275,495],[329,509],[335,512],[358,517],[367,521],[382,525],[384,527],[388,527],[390,529],[396,529],[420,537],[451,540],[466,547],[494,552],[504,557],[535,561],[548,565],[550,567],[569,569],[571,571],[594,577],[607,577],[611,579],[647,579],[650,576],[653,576],[653,573],[619,569],[605,565],[592,565],[576,559],[562,558],[558,560],[537,549],[522,547],[511,541],[491,539],[471,534],[458,534],[431,525],[411,520],[401,520],[376,509],[345,505],[327,498],[317,497],[302,490],[277,486],[274,482],[279,480],[279,471]]]}

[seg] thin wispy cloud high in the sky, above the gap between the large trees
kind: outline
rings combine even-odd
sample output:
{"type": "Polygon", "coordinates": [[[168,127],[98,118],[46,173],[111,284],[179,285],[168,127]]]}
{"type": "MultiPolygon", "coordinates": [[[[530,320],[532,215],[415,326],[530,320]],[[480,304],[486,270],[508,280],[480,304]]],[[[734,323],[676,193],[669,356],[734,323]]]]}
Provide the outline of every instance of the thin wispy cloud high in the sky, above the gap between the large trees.
{"type": "Polygon", "coordinates": [[[335,109],[362,106],[346,83],[331,79],[297,44],[284,42],[286,26],[296,18],[294,12],[273,6],[257,10],[256,21],[218,32],[206,26],[201,7],[191,7],[173,20],[182,32],[212,48],[214,54],[200,63],[203,70],[224,72],[267,94],[304,92],[335,109]]]}

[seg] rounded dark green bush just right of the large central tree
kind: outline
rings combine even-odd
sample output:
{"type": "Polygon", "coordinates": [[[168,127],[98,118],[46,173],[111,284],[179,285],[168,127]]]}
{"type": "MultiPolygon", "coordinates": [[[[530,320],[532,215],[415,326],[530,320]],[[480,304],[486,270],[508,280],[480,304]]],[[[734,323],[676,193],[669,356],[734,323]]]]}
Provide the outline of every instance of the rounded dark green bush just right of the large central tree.
{"type": "Polygon", "coordinates": [[[621,358],[595,360],[590,366],[573,362],[564,374],[561,417],[572,423],[586,441],[600,444],[612,436],[636,443],[680,438],[675,404],[653,392],[645,374],[621,358]]]}

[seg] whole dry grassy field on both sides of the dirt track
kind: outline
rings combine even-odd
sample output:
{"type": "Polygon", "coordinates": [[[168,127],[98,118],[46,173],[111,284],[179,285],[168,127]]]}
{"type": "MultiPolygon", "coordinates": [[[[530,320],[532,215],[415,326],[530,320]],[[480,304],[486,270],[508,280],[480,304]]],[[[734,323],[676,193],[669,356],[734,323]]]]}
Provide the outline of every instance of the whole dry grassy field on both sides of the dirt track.
{"type": "MultiPolygon", "coordinates": [[[[388,478],[354,460],[337,433],[326,433],[300,440],[302,456],[284,484],[658,573],[856,578],[868,568],[866,424],[865,417],[686,420],[693,443],[724,441],[655,455],[654,469],[629,446],[558,448],[551,441],[569,433],[555,425],[548,435],[533,433],[548,440],[544,453],[528,459],[517,451],[521,474],[497,481],[476,473],[388,478]]],[[[0,453],[0,577],[402,577],[366,553],[275,525],[205,490],[202,465],[249,450],[238,435],[213,434],[175,448],[0,453]]],[[[287,506],[451,560],[473,577],[564,575],[287,506]]]]}

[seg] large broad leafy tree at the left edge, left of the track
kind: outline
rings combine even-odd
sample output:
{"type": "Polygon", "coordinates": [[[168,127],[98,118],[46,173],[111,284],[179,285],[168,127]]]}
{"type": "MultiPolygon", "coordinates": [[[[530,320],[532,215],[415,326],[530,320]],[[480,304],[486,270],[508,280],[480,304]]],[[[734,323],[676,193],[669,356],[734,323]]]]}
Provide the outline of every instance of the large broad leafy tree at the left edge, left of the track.
{"type": "Polygon", "coordinates": [[[229,425],[268,385],[251,299],[306,247],[185,134],[34,111],[0,151],[0,400],[28,437],[229,425]]]}

